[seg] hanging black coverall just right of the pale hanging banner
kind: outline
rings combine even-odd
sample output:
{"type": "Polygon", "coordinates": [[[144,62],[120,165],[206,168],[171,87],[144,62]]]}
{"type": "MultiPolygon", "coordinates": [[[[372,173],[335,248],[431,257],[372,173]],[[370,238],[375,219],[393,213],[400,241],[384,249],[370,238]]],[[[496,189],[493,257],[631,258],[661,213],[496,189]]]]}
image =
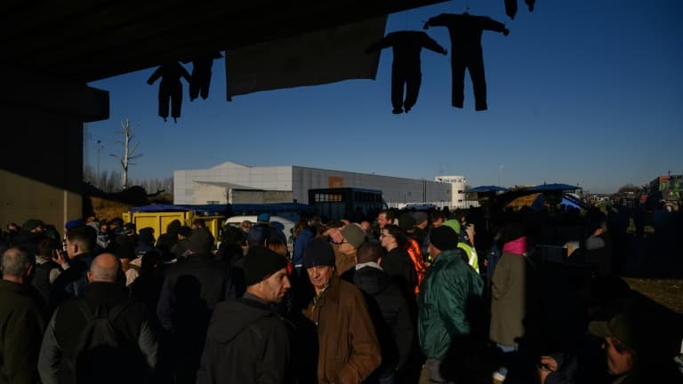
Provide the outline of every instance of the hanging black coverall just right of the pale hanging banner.
{"type": "Polygon", "coordinates": [[[391,32],[382,40],[370,45],[366,52],[393,47],[394,61],[391,64],[391,105],[393,113],[406,113],[417,101],[422,84],[420,52],[422,47],[431,51],[446,54],[444,47],[422,31],[391,32]],[[403,100],[403,88],[406,87],[406,100],[403,100]]]}

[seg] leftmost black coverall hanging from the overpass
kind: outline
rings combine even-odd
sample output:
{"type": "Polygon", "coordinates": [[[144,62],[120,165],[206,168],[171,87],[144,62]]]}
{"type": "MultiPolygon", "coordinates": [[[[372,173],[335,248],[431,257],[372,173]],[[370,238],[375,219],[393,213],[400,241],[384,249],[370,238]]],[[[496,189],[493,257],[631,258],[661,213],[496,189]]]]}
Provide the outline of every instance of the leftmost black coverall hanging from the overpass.
{"type": "Polygon", "coordinates": [[[147,84],[151,85],[161,77],[159,84],[159,116],[168,117],[168,103],[171,102],[171,116],[173,120],[181,116],[182,84],[181,77],[189,83],[189,72],[178,61],[163,64],[149,76],[147,84]]]}

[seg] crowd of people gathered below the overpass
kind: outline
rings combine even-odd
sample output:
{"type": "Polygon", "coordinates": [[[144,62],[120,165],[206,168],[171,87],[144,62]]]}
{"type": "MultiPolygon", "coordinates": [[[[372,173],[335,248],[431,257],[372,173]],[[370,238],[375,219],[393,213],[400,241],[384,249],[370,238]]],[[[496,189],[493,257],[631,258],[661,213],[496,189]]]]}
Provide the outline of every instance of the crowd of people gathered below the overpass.
{"type": "Polygon", "coordinates": [[[218,239],[202,220],[174,220],[158,236],[119,218],[70,220],[64,236],[42,220],[11,223],[0,244],[0,383],[649,377],[628,294],[596,292],[615,292],[608,215],[583,228],[572,257],[589,289],[566,296],[576,322],[561,330],[549,324],[558,296],[543,293],[550,269],[534,257],[532,216],[373,216],[301,218],[293,252],[267,220],[218,239]]]}

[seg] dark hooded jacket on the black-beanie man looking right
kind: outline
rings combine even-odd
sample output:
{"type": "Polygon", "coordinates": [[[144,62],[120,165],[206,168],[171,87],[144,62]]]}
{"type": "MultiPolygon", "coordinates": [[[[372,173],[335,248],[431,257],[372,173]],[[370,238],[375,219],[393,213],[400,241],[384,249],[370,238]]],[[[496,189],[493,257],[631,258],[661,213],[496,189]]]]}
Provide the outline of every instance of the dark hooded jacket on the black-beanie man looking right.
{"type": "Polygon", "coordinates": [[[291,324],[259,301],[219,303],[206,333],[197,384],[288,382],[291,331],[291,324]]]}

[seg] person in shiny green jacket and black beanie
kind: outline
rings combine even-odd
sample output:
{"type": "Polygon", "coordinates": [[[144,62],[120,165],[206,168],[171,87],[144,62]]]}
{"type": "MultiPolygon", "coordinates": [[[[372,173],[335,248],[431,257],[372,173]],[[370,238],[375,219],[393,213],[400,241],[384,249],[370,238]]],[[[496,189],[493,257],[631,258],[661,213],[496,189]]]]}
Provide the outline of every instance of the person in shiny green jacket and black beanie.
{"type": "Polygon", "coordinates": [[[420,289],[418,337],[425,356],[420,383],[447,383],[447,356],[467,354],[472,308],[480,307],[484,283],[458,249],[453,228],[441,226],[430,234],[432,264],[420,289]],[[458,352],[460,351],[460,352],[458,352]]]}

